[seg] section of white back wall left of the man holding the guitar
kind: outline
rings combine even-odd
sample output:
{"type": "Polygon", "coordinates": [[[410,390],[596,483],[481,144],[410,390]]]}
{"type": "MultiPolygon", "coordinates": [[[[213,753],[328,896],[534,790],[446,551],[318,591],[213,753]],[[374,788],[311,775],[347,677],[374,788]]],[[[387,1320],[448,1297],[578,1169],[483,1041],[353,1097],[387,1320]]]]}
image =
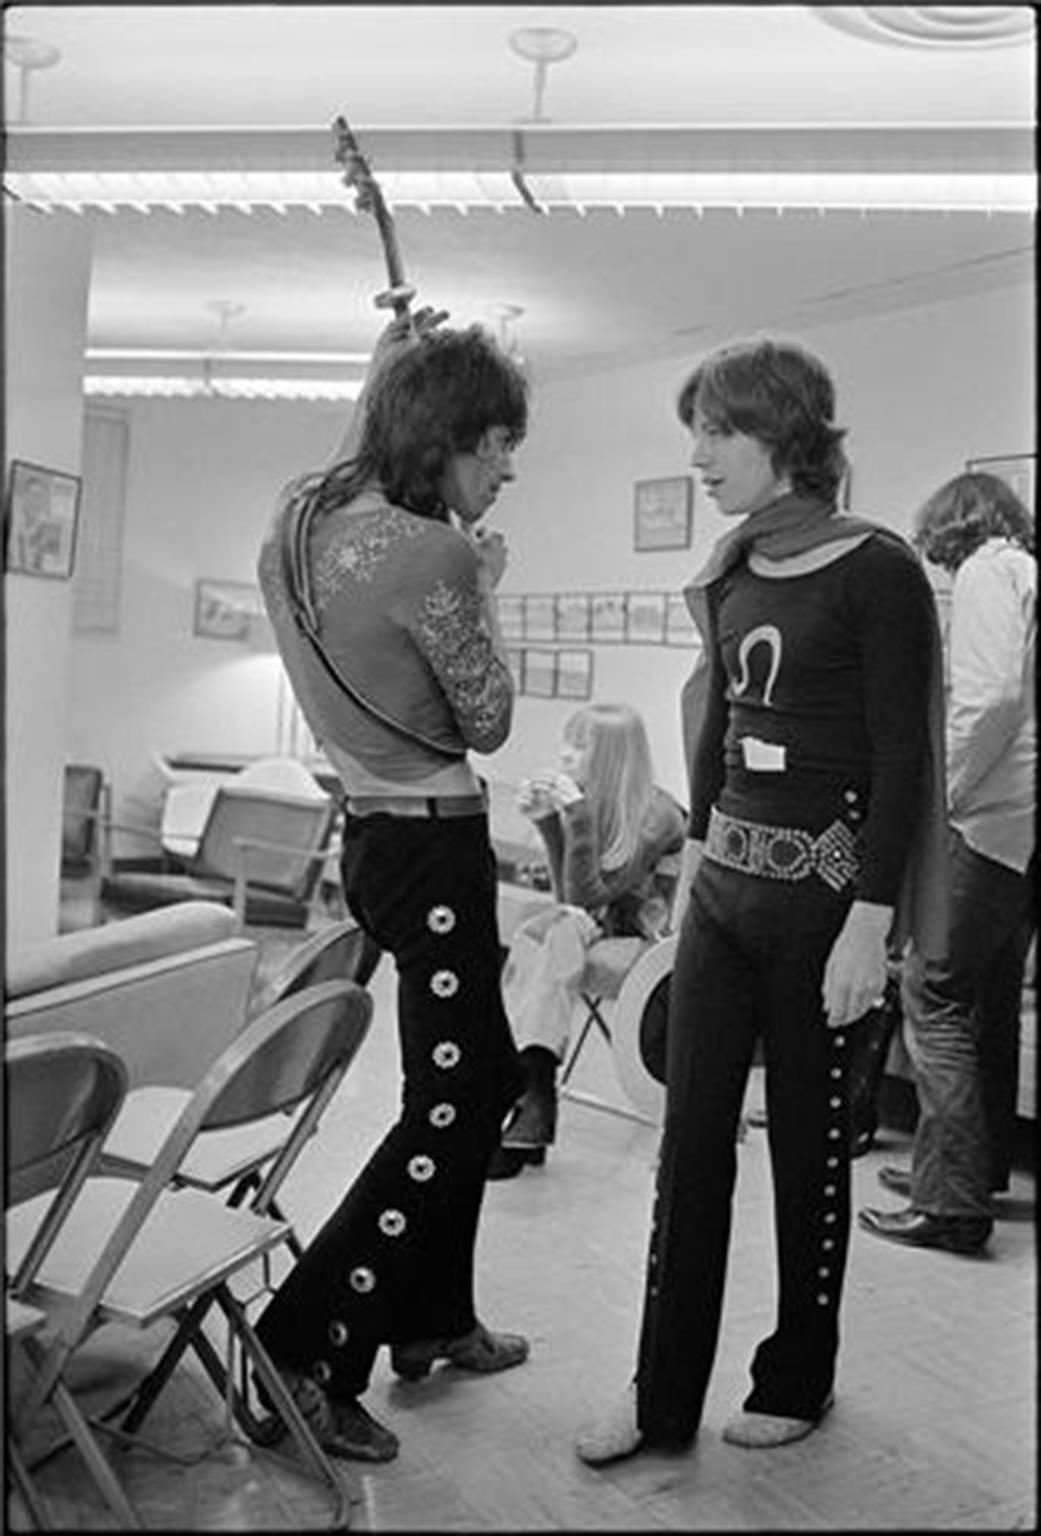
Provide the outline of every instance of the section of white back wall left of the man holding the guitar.
{"type": "Polygon", "coordinates": [[[329,459],[345,410],[127,406],[123,622],[118,634],[74,636],[68,727],[69,757],[101,763],[120,819],[154,820],[161,777],[152,753],[275,750],[275,657],[197,637],[195,581],[255,581],[279,488],[329,459]]]}

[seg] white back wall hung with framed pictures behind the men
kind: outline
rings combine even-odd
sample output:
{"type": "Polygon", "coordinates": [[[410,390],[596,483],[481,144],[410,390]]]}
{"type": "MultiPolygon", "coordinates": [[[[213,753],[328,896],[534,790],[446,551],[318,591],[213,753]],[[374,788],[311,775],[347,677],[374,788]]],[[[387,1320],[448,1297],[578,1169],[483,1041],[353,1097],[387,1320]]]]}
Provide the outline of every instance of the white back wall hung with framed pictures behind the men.
{"type": "MultiPolygon", "coordinates": [[[[849,425],[854,508],[903,531],[966,458],[1033,449],[1033,313],[1007,289],[800,332],[831,366],[849,425]]],[[[722,531],[696,488],[694,544],[633,551],[633,482],[688,470],[674,413],[697,353],[539,387],[517,481],[493,513],[510,542],[504,590],[679,590],[722,531]]],[[[270,688],[241,647],[195,641],[195,576],[252,579],[272,496],[324,462],[341,429],[329,407],[137,406],[131,425],[124,628],[77,639],[75,756],[107,760],[117,791],[144,793],[152,748],[263,751],[270,688]]],[[[679,690],[689,657],[666,647],[597,647],[596,696],[628,699],[651,731],[659,779],[685,797],[679,690]]],[[[573,708],[519,699],[510,742],[484,760],[516,779],[556,757],[573,708]]]]}

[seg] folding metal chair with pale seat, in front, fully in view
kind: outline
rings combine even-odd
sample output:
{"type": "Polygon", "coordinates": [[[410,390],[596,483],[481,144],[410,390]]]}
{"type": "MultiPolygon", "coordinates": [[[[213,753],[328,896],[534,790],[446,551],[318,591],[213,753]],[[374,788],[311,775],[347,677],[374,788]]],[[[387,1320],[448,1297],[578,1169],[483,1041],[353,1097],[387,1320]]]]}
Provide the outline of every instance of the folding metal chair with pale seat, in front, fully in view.
{"type": "MultiPolygon", "coordinates": [[[[54,1341],[41,1355],[28,1412],[55,1392],[69,1356],[100,1326],[149,1329],[172,1318],[178,1327],[158,1364],[120,1404],[121,1427],[143,1422],[186,1350],[229,1404],[243,1432],[269,1441],[203,1324],[212,1312],[227,1322],[263,1382],[276,1419],[333,1496],[335,1522],[349,1524],[347,1490],[315,1439],[253,1330],[230,1281],[283,1244],[289,1223],[256,1209],[232,1209],[200,1189],[175,1189],[174,1178],[200,1132],[232,1130],[299,1104],[306,1109],[269,1174],[275,1193],[327,1100],[353,1060],[372,1017],[372,998],[353,982],[322,982],[287,997],[252,1020],[190,1095],[138,1181],[89,1178],[38,1269],[25,1299],[49,1313],[54,1341]]],[[[31,1250],[32,1201],[11,1213],[8,1250],[31,1250]],[[18,1220],[15,1220],[18,1218],[18,1220]]]]}

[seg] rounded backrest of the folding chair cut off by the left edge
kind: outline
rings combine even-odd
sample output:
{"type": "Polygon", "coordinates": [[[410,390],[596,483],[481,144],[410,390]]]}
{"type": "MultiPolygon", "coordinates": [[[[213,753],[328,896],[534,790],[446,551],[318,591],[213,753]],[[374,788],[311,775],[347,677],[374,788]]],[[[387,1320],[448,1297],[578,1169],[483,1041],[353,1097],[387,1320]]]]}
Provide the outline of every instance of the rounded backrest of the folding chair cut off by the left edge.
{"type": "Polygon", "coordinates": [[[126,1094],[126,1068],[91,1035],[55,1032],[5,1049],[8,1204],[54,1190],[11,1278],[18,1295],[46,1258],[126,1094]]]}

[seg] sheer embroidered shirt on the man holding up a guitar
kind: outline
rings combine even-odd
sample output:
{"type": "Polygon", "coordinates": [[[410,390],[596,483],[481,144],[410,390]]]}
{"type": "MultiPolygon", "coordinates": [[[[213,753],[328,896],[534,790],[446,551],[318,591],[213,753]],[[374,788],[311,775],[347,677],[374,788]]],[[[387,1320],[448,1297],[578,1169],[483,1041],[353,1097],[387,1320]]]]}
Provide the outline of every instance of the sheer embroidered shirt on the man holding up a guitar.
{"type": "MultiPolygon", "coordinates": [[[[258,579],[293,693],[339,766],[372,780],[428,782],[467,748],[505,740],[513,680],[482,617],[478,556],[451,525],[362,493],[316,518],[307,551],[319,633],[352,687],[433,745],[405,739],[324,671],[290,611],[281,558],[287,487],[267,530],[258,579]]],[[[341,768],[342,776],[342,768],[341,768]]],[[[349,790],[356,785],[347,783],[349,790]]]]}

